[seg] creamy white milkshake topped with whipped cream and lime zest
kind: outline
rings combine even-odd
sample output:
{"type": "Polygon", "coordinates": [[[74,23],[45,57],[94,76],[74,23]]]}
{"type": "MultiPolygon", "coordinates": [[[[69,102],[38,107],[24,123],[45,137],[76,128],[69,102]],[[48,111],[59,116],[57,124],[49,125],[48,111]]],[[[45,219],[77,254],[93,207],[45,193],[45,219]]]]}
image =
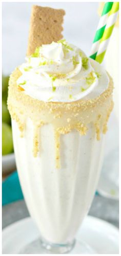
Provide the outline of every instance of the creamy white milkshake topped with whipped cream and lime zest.
{"type": "Polygon", "coordinates": [[[89,211],[112,111],[111,77],[66,40],[38,47],[9,81],[19,179],[42,240],[72,243],[89,211]]]}

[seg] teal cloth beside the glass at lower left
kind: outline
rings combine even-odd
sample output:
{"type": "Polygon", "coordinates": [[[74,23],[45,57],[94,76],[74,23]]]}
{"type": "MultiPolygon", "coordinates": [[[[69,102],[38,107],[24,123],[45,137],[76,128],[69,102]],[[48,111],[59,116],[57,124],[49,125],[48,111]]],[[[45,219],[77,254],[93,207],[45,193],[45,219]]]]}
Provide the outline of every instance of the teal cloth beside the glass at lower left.
{"type": "Polygon", "coordinates": [[[2,184],[2,205],[24,199],[17,172],[13,172],[2,184]]]}

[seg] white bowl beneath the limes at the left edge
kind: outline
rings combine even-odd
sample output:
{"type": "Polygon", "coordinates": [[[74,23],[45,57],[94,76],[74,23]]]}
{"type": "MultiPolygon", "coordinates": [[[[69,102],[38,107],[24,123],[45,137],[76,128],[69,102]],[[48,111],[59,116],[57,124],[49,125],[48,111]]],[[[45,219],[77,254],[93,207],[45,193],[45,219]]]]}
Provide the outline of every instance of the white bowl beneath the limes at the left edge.
{"type": "Polygon", "coordinates": [[[3,174],[15,171],[15,155],[14,153],[2,156],[2,172],[3,174]]]}

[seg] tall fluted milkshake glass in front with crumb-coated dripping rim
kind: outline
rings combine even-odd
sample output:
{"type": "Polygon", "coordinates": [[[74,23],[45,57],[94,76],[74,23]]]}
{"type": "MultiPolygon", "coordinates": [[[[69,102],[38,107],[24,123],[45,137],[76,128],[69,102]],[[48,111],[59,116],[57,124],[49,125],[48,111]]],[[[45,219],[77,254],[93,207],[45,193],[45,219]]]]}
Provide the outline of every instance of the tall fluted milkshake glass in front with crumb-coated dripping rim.
{"type": "MultiPolygon", "coordinates": [[[[19,179],[46,253],[67,253],[89,211],[102,166],[106,125],[112,110],[112,80],[94,100],[42,102],[18,92],[16,69],[10,78],[19,179]]],[[[79,253],[90,252],[80,244],[79,253]],[[83,248],[83,249],[82,249],[83,248]]],[[[35,253],[36,251],[34,251],[35,253]]]]}

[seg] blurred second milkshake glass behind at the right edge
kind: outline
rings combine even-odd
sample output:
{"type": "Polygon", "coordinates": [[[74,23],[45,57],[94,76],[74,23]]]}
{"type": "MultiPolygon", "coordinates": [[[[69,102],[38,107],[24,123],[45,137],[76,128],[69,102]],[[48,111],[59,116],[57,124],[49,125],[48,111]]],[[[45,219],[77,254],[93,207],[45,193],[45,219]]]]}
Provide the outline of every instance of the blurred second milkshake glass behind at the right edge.
{"type": "MultiPolygon", "coordinates": [[[[99,15],[102,14],[104,3],[99,4],[99,15]]],[[[114,82],[113,89],[113,100],[114,100],[114,111],[112,115],[112,123],[116,122],[116,133],[118,134],[118,120],[119,120],[119,16],[115,23],[112,31],[112,36],[110,38],[108,48],[106,50],[105,56],[105,66],[106,70],[112,76],[114,82]]],[[[115,130],[115,129],[114,129],[115,130]]],[[[109,140],[110,137],[109,136],[109,140]]],[[[112,151],[105,156],[105,162],[110,164],[110,166],[103,166],[102,173],[100,175],[98,192],[103,196],[118,199],[119,198],[119,167],[118,164],[118,139],[113,143],[112,151]],[[108,159],[111,159],[110,162],[108,159]],[[108,169],[110,168],[110,172],[108,169]]]]}

